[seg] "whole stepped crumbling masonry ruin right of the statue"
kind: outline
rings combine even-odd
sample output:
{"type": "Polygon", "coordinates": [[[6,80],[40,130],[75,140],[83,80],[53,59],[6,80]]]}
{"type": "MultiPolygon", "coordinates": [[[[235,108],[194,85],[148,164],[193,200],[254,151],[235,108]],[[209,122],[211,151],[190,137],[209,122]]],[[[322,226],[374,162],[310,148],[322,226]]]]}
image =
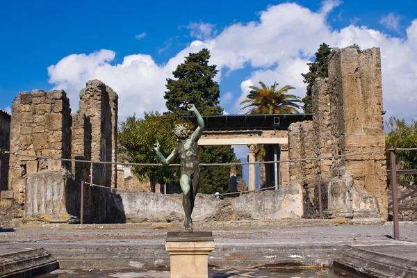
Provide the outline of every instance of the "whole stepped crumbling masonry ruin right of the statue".
{"type": "MultiPolygon", "coordinates": [[[[313,121],[292,124],[288,142],[290,158],[385,148],[379,48],[332,51],[329,78],[316,79],[313,86],[313,121]]],[[[328,217],[387,218],[383,152],[291,163],[290,174],[291,181],[302,184],[305,217],[318,216],[320,174],[328,217]]]]}

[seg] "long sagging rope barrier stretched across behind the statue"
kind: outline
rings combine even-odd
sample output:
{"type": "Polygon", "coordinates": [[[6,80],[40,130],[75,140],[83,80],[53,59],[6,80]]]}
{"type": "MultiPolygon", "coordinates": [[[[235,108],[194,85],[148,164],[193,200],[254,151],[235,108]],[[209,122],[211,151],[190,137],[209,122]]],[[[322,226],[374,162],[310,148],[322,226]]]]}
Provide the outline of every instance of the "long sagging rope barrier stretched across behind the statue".
{"type": "MultiPolygon", "coordinates": [[[[410,150],[414,150],[417,148],[412,148],[410,150]]],[[[399,149],[399,150],[409,150],[409,149],[399,149]]],[[[3,154],[13,154],[14,156],[24,156],[24,157],[31,157],[31,158],[38,158],[43,160],[54,160],[54,161],[68,161],[68,162],[79,162],[79,163],[97,163],[97,164],[111,164],[111,165],[127,165],[127,166],[164,166],[161,163],[124,163],[124,162],[113,162],[113,161],[84,161],[80,159],[72,159],[72,158],[55,158],[50,156],[35,156],[32,154],[19,154],[17,152],[8,152],[2,150],[3,154]]],[[[379,149],[375,151],[369,152],[357,152],[352,154],[338,154],[336,156],[319,156],[319,157],[311,157],[311,158],[297,158],[297,159],[286,159],[281,161],[256,161],[256,162],[231,162],[231,163],[199,163],[200,166],[223,166],[223,165],[254,165],[254,164],[270,164],[270,163],[284,163],[284,162],[300,162],[300,161],[320,161],[322,159],[329,159],[329,158],[338,158],[338,157],[347,157],[347,156],[360,156],[363,154],[377,154],[380,152],[386,152],[385,149],[379,149]]],[[[180,166],[179,164],[170,164],[165,166],[180,166]]]]}

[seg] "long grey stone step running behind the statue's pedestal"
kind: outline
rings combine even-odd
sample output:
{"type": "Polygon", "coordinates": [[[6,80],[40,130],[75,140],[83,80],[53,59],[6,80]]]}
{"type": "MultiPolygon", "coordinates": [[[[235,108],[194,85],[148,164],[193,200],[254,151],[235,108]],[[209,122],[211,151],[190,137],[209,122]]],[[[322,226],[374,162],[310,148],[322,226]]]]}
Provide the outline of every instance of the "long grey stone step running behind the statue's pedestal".
{"type": "MultiPolygon", "coordinates": [[[[44,245],[62,268],[167,268],[170,258],[165,245],[129,247],[44,245]],[[109,263],[111,262],[111,265],[109,263]]],[[[343,245],[218,244],[208,263],[220,268],[330,266],[343,245]]]]}

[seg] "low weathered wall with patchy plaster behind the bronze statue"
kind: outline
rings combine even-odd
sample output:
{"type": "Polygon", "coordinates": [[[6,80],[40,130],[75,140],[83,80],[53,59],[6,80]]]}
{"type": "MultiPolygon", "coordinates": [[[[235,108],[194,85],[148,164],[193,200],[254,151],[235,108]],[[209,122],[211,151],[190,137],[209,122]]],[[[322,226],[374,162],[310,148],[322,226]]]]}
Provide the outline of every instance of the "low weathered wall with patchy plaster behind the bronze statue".
{"type": "MultiPolygon", "coordinates": [[[[126,222],[170,222],[183,220],[182,195],[132,193],[112,190],[115,207],[126,222]]],[[[301,186],[263,190],[234,198],[197,195],[193,220],[280,220],[301,218],[301,186]]]]}

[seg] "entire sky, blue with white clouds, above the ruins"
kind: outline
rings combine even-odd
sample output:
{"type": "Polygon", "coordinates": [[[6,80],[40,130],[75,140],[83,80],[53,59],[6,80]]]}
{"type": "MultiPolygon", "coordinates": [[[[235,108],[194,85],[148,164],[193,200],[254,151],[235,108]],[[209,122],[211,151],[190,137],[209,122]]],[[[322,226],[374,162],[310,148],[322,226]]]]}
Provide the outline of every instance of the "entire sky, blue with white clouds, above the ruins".
{"type": "Polygon", "coordinates": [[[79,90],[100,79],[120,96],[120,120],[164,111],[165,79],[206,47],[220,104],[242,113],[259,81],[304,97],[300,74],[327,42],[381,47],[385,117],[416,119],[416,11],[415,1],[386,0],[1,1],[0,108],[19,91],[58,88],[76,111],[79,90]]]}

